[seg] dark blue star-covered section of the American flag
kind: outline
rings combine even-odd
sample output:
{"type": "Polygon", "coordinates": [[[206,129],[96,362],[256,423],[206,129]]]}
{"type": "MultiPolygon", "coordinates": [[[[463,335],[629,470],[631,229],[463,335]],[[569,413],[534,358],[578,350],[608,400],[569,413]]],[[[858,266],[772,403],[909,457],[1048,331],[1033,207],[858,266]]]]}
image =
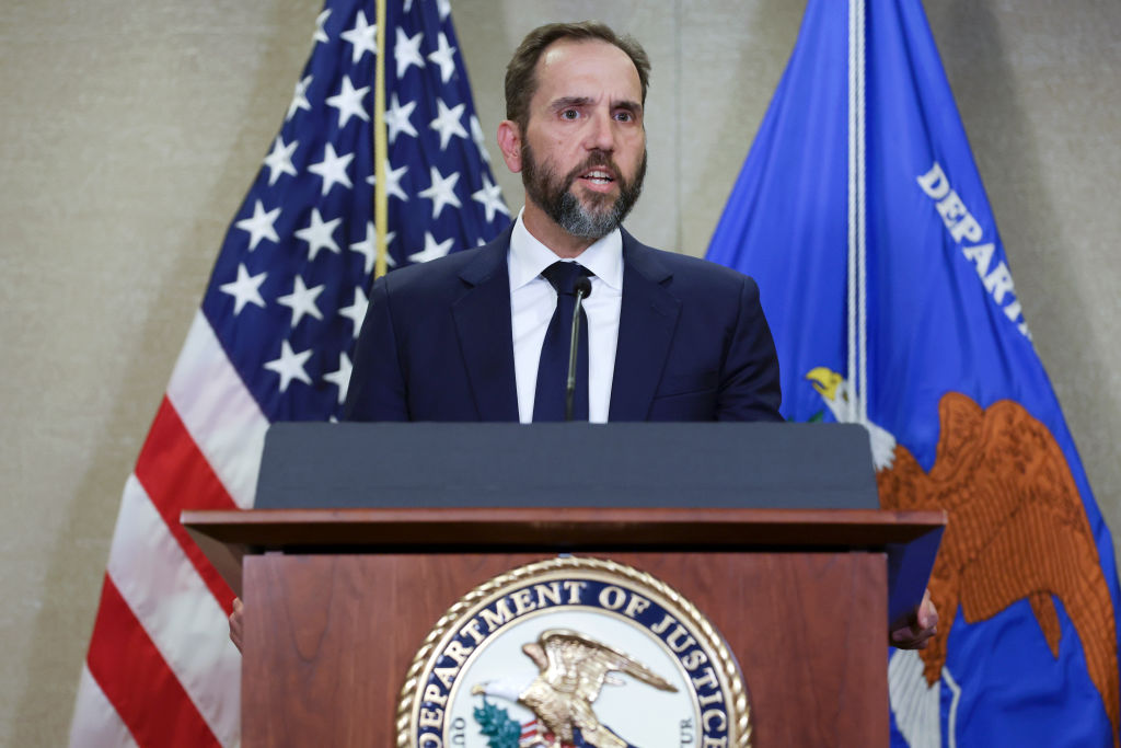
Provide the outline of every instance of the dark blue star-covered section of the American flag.
{"type": "MultiPolygon", "coordinates": [[[[269,421],[336,416],[376,259],[374,3],[331,0],[315,48],[215,264],[203,312],[269,421]]],[[[509,223],[447,0],[390,1],[390,268],[509,223]]]]}

